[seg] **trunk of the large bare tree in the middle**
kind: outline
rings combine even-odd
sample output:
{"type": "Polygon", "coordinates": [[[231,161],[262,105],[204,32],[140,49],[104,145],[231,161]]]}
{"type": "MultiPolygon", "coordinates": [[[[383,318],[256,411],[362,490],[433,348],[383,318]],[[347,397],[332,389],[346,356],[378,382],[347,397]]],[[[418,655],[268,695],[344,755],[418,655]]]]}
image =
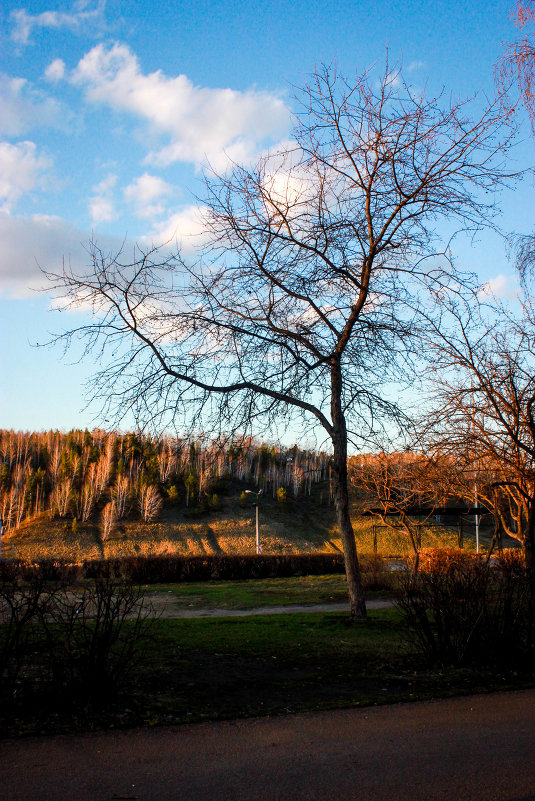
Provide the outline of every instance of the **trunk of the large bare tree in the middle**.
{"type": "Polygon", "coordinates": [[[366,620],[366,600],[362,587],[355,534],[349,516],[349,490],[347,477],[347,429],[341,406],[341,375],[337,365],[331,372],[331,413],[333,422],[332,482],[338,527],[344,548],[344,564],[349,594],[351,617],[366,620]]]}

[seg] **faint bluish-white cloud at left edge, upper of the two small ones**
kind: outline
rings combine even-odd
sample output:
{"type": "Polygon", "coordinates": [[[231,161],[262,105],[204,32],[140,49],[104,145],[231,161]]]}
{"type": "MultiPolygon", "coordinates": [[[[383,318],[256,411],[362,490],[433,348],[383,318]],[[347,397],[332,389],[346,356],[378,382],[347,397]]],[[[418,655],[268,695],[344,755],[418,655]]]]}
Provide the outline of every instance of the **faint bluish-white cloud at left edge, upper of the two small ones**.
{"type": "Polygon", "coordinates": [[[60,128],[70,116],[61,103],[24,78],[0,75],[0,134],[20,136],[37,126],[60,128]]]}

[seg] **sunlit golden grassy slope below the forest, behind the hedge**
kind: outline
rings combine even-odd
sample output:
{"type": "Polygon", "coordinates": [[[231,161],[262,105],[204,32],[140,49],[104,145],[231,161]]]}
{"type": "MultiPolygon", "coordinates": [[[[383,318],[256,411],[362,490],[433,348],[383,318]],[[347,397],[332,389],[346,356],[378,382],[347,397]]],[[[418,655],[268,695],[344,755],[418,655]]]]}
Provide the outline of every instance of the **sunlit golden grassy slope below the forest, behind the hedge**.
{"type": "MultiPolygon", "coordinates": [[[[145,522],[139,517],[119,521],[109,536],[102,537],[98,522],[76,523],[51,519],[48,513],[27,520],[3,538],[4,553],[13,546],[22,558],[51,556],[75,559],[131,554],[254,553],[255,508],[243,508],[240,496],[245,485],[229,482],[220,495],[217,510],[184,508],[166,503],[160,517],[145,522]],[[73,530],[74,529],[74,530],[73,530]]],[[[281,503],[269,495],[260,501],[260,536],[264,553],[341,552],[342,544],[334,508],[325,498],[326,487],[318,485],[308,497],[281,503]]],[[[373,521],[353,510],[353,525],[361,553],[373,551],[373,521]]],[[[455,545],[456,532],[434,527],[422,531],[422,546],[455,545]]],[[[384,556],[406,553],[408,541],[401,534],[377,528],[377,546],[384,556]]]]}

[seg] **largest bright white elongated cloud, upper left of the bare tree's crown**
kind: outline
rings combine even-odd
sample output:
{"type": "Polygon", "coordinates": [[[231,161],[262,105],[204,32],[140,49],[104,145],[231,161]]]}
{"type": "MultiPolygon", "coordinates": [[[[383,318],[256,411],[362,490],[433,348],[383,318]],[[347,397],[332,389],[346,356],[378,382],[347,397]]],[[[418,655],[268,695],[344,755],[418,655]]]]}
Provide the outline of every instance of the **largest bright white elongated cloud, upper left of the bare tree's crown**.
{"type": "Polygon", "coordinates": [[[129,47],[97,45],[79,62],[73,83],[84,86],[89,100],[128,111],[167,135],[169,143],[149,154],[147,162],[210,162],[224,169],[229,158],[249,161],[266,140],[285,135],[290,112],[268,92],[194,86],[185,75],[169,78],[160,70],[144,75],[129,47]]]}

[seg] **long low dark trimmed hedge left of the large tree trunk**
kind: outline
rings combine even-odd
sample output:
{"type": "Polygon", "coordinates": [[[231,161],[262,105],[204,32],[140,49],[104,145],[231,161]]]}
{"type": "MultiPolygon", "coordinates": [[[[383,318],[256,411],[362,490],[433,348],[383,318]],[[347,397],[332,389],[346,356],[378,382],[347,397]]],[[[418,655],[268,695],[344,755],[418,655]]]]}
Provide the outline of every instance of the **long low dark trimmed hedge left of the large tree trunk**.
{"type": "Polygon", "coordinates": [[[136,584],[184,581],[243,580],[317,576],[343,573],[342,554],[281,554],[232,556],[127,556],[101,559],[81,565],[61,560],[34,562],[0,560],[0,579],[36,574],[45,581],[75,583],[83,578],[122,578],[136,584]]]}

